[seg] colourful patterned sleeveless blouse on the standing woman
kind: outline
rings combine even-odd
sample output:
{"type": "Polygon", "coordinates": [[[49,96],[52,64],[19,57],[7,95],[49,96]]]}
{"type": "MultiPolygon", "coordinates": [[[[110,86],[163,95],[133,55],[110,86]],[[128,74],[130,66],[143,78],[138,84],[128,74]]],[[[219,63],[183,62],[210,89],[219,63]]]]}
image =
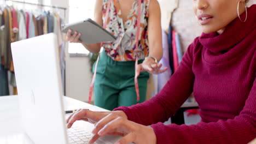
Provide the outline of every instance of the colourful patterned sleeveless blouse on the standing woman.
{"type": "MultiPolygon", "coordinates": [[[[137,52],[138,59],[144,59],[148,49],[148,7],[150,0],[139,0],[141,4],[141,28],[138,49],[136,49],[137,11],[138,0],[134,0],[130,13],[126,20],[121,18],[119,0],[112,0],[107,20],[107,31],[117,37],[117,40],[103,43],[107,55],[114,61],[135,61],[137,52]]],[[[102,13],[103,23],[106,17],[108,0],[103,0],[102,13]]]]}

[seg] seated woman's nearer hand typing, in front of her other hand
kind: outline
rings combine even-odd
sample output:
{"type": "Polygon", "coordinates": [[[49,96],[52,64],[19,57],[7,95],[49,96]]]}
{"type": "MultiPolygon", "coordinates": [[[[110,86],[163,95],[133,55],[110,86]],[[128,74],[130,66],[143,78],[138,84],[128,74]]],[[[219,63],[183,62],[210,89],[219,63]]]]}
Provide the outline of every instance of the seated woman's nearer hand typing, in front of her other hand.
{"type": "Polygon", "coordinates": [[[103,135],[121,135],[119,144],[139,143],[156,144],[156,135],[152,127],[144,126],[127,118],[110,113],[95,124],[92,134],[95,134],[89,143],[94,143],[103,135]]]}

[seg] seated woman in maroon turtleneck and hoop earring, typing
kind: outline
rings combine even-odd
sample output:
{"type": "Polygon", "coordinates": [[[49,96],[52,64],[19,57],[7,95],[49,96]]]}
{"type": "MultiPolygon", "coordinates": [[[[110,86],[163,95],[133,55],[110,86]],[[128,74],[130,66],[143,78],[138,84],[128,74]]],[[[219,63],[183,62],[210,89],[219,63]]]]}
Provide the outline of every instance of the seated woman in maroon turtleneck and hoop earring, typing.
{"type": "Polygon", "coordinates": [[[107,134],[117,143],[248,143],[256,137],[256,5],[247,0],[194,0],[203,33],[154,98],[113,112],[79,110],[67,119],[96,123],[90,142],[107,134]],[[202,121],[164,125],[194,92],[202,121]],[[146,126],[150,125],[150,126],[146,126]]]}

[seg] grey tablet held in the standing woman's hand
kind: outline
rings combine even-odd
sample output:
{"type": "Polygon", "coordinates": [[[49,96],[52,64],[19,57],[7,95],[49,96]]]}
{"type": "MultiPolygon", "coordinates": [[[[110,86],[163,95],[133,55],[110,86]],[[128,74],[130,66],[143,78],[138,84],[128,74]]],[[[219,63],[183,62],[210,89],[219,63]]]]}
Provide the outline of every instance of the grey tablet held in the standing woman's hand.
{"type": "Polygon", "coordinates": [[[95,44],[117,39],[112,33],[108,32],[102,26],[91,19],[70,23],[62,26],[62,32],[67,33],[68,29],[81,33],[80,40],[85,44],[95,44]]]}

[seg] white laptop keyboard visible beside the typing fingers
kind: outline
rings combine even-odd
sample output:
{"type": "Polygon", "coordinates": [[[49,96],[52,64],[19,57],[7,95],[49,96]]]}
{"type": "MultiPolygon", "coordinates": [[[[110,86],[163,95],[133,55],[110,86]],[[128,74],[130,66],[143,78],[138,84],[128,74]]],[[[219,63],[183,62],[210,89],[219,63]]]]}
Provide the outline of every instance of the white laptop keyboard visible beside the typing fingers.
{"type": "Polygon", "coordinates": [[[67,130],[69,144],[87,144],[92,137],[92,133],[81,129],[80,127],[72,127],[67,130]]]}

